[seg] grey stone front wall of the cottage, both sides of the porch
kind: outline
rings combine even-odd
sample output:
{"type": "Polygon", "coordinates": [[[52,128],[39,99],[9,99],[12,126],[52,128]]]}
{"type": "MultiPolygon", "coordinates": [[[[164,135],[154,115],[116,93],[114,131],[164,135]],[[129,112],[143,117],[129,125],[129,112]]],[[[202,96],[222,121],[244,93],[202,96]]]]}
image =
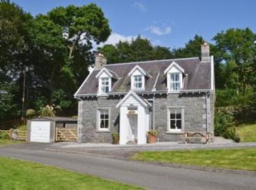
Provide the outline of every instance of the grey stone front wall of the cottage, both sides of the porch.
{"type": "MultiPolygon", "coordinates": [[[[123,96],[122,96],[123,97],[123,96]]],[[[84,143],[112,143],[113,132],[119,131],[119,108],[116,104],[122,97],[87,98],[82,101],[81,134],[78,142],[84,143]],[[97,131],[97,109],[110,108],[110,131],[97,131]]],[[[153,96],[143,96],[152,99],[153,96]]],[[[208,98],[208,130],[213,131],[212,99],[208,98]]],[[[159,141],[184,141],[182,133],[167,133],[167,107],[184,106],[184,128],[182,132],[206,132],[206,94],[168,94],[155,96],[155,129],[158,131],[159,141]]],[[[153,121],[153,107],[151,118],[153,121]]],[[[152,127],[153,127],[153,122],[152,127]]]]}

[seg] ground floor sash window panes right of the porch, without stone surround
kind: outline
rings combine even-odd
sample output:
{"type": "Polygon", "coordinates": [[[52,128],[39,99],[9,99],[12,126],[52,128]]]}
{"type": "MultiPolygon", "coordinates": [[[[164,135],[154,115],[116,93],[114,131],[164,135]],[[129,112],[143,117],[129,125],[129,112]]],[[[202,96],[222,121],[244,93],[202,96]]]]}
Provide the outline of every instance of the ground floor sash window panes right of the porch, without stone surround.
{"type": "Polygon", "coordinates": [[[168,130],[174,132],[181,132],[182,129],[182,108],[169,108],[168,110],[168,130]]]}

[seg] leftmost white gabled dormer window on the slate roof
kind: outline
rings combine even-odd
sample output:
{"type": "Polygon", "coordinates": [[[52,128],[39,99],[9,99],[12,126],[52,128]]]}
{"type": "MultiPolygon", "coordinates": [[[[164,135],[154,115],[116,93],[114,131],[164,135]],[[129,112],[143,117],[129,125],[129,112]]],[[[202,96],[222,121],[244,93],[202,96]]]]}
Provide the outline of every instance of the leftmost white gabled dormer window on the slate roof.
{"type": "Polygon", "coordinates": [[[111,92],[113,81],[119,79],[118,75],[114,71],[104,67],[98,72],[96,78],[99,80],[98,95],[106,95],[111,92]]]}

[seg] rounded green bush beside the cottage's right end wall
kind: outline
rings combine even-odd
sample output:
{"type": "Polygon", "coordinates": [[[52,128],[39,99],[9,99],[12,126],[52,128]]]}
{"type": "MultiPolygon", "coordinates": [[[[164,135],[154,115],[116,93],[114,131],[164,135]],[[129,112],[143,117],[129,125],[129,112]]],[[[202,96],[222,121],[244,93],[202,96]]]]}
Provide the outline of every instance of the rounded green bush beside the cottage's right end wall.
{"type": "Polygon", "coordinates": [[[215,113],[214,118],[214,132],[216,136],[224,137],[227,128],[232,125],[233,117],[224,112],[215,113]]]}

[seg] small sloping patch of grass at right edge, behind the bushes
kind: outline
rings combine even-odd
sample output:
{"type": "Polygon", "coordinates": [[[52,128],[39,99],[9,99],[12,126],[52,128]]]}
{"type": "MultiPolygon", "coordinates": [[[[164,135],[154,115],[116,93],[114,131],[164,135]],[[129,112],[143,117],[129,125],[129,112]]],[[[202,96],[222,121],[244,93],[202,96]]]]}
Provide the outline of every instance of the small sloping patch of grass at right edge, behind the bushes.
{"type": "Polygon", "coordinates": [[[242,124],[238,127],[241,142],[256,142],[256,124],[242,124]]]}

